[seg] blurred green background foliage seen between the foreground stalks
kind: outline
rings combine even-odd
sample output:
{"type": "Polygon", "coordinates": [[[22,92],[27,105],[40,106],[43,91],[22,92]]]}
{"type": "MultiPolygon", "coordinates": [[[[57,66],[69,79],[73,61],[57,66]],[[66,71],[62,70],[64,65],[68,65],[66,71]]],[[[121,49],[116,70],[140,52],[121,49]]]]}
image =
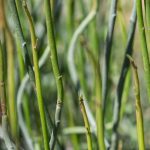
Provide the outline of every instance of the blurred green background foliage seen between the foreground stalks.
{"type": "MultiPolygon", "coordinates": [[[[31,50],[31,39],[30,39],[30,31],[28,20],[25,15],[25,12],[22,7],[22,1],[16,0],[18,3],[18,14],[21,22],[21,26],[23,29],[23,33],[25,36],[25,40],[27,42],[27,48],[29,50],[29,55],[32,60],[32,50],[31,50]]],[[[25,76],[27,72],[26,69],[23,69],[23,75],[21,75],[20,69],[20,54],[17,48],[17,41],[15,39],[15,26],[13,22],[12,12],[9,6],[9,0],[0,0],[0,39],[2,43],[2,47],[5,52],[4,62],[5,62],[5,80],[8,81],[8,76],[12,76],[13,72],[8,73],[8,61],[9,59],[7,51],[8,37],[6,37],[6,33],[4,32],[2,27],[3,23],[3,10],[5,12],[5,19],[8,24],[8,28],[13,35],[13,60],[14,67],[12,68],[14,71],[14,99],[15,101],[15,109],[17,109],[17,94],[18,89],[21,85],[21,80],[25,76]],[[2,3],[4,5],[2,5],[2,3]],[[4,9],[5,8],[5,9],[4,9]]],[[[104,78],[104,55],[105,55],[105,44],[106,44],[106,35],[108,30],[108,22],[110,16],[110,7],[111,0],[99,0],[98,2],[98,11],[96,13],[96,17],[89,23],[89,25],[85,28],[84,32],[78,37],[78,41],[76,42],[76,48],[74,53],[75,66],[77,69],[77,74],[80,82],[81,88],[87,92],[87,101],[89,108],[94,116],[96,114],[96,102],[95,102],[95,75],[94,69],[92,65],[91,58],[88,54],[88,48],[92,51],[95,59],[97,55],[99,55],[99,64],[101,68],[102,75],[102,83],[104,78]],[[87,48],[88,47],[88,48],[87,48]],[[84,77],[82,79],[82,77],[84,77]],[[81,82],[84,82],[82,85],[81,82]]],[[[144,0],[143,0],[144,3],[144,0]]],[[[54,30],[55,30],[55,39],[57,45],[57,53],[58,53],[58,62],[60,67],[60,72],[62,74],[63,79],[63,87],[64,87],[64,104],[62,109],[61,116],[61,125],[58,133],[58,139],[60,145],[63,147],[62,149],[71,150],[71,149],[87,149],[86,136],[84,131],[84,122],[82,118],[82,114],[79,106],[79,97],[76,91],[76,87],[70,77],[68,70],[68,62],[67,55],[69,44],[71,42],[71,38],[73,33],[78,28],[79,24],[82,20],[87,16],[89,11],[91,10],[92,0],[51,0],[52,4],[52,16],[54,20],[54,30]]],[[[110,68],[109,68],[109,86],[108,86],[108,96],[107,96],[107,104],[106,104],[106,113],[104,115],[104,129],[105,129],[105,138],[108,143],[111,141],[112,136],[112,127],[113,127],[113,107],[114,101],[116,99],[116,89],[119,81],[122,63],[125,54],[125,48],[127,44],[127,37],[129,31],[130,24],[130,16],[133,8],[133,0],[118,0],[117,3],[117,16],[112,40],[112,50],[110,57],[110,68]]],[[[35,26],[36,35],[38,37],[37,48],[38,48],[38,58],[40,59],[44,51],[46,50],[47,43],[47,31],[46,31],[46,21],[44,15],[44,4],[42,0],[27,0],[27,5],[29,11],[33,17],[33,22],[35,26]]],[[[143,120],[144,120],[144,133],[145,133],[145,145],[146,149],[150,149],[150,107],[148,102],[148,96],[146,92],[146,81],[144,79],[144,69],[143,62],[141,56],[141,44],[138,34],[138,28],[136,27],[135,35],[134,35],[134,44],[133,44],[133,58],[138,67],[138,75],[140,79],[140,92],[141,92],[141,103],[143,110],[143,120]]],[[[33,61],[32,61],[33,64],[33,61]]],[[[25,68],[24,64],[22,64],[23,68],[25,68]]],[[[40,69],[41,73],[41,83],[42,83],[42,92],[44,105],[46,106],[48,113],[54,122],[55,120],[55,107],[56,107],[56,99],[57,99],[57,89],[56,83],[53,76],[52,65],[50,62],[50,57],[46,60],[44,65],[40,69]]],[[[129,86],[125,86],[124,91],[127,92],[127,95],[122,96],[122,108],[121,108],[121,119],[118,127],[119,131],[119,148],[118,149],[138,149],[137,144],[137,132],[136,132],[136,117],[135,117],[135,98],[133,91],[133,78],[132,72],[129,70],[128,73],[128,83],[129,86]]],[[[103,84],[102,84],[103,85],[103,84]]],[[[8,87],[10,85],[6,84],[6,95],[8,95],[8,87]]],[[[103,86],[102,86],[103,87],[103,86]]],[[[7,96],[8,97],[8,96],[7,96]]],[[[8,104],[7,100],[7,104],[8,104]]],[[[9,107],[6,106],[9,110],[9,107]]],[[[37,105],[36,96],[34,94],[34,88],[31,85],[31,82],[26,84],[23,105],[21,109],[24,114],[25,125],[27,126],[29,135],[33,140],[35,149],[43,149],[43,139],[42,139],[42,131],[41,131],[41,123],[39,117],[39,110],[37,105]],[[29,113],[29,114],[28,114],[29,113]]],[[[12,113],[12,112],[11,112],[12,113]]],[[[9,115],[8,115],[9,120],[9,115]]],[[[18,124],[18,120],[14,122],[14,124],[18,124]]],[[[8,123],[8,131],[10,132],[10,125],[8,123]]],[[[97,146],[97,138],[93,134],[92,131],[92,142],[93,149],[98,149],[97,146]]],[[[0,128],[0,134],[2,134],[2,127],[0,128]]],[[[23,133],[18,126],[18,139],[19,142],[17,144],[20,145],[21,148],[27,149],[26,142],[24,141],[23,133]]],[[[11,137],[11,132],[10,132],[11,137]]],[[[0,137],[0,149],[6,149],[3,136],[0,137]]],[[[15,140],[13,140],[15,142],[15,140]]],[[[56,149],[58,148],[58,143],[56,144],[56,149]]]]}

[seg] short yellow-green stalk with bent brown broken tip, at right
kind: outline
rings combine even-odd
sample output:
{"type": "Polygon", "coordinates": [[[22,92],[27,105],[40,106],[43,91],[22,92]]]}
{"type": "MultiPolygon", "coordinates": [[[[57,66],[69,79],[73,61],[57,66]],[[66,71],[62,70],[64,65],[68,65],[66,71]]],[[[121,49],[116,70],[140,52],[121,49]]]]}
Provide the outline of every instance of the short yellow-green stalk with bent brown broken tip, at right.
{"type": "Polygon", "coordinates": [[[134,78],[134,93],[135,93],[135,103],[136,103],[136,124],[137,124],[137,135],[138,135],[138,145],[140,150],[145,150],[145,142],[144,142],[144,123],[143,123],[143,113],[142,106],[140,100],[140,84],[139,77],[137,72],[137,66],[134,63],[134,60],[131,56],[128,55],[130,59],[130,63],[132,65],[133,70],[133,78],[134,78]]]}

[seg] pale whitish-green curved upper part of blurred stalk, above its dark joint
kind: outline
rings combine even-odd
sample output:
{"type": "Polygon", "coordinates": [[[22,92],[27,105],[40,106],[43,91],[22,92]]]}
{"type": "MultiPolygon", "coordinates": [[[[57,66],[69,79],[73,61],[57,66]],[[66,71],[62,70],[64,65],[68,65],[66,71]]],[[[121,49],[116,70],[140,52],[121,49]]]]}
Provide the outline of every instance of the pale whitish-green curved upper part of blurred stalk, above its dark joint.
{"type": "Polygon", "coordinates": [[[75,56],[74,51],[75,51],[76,43],[77,43],[77,40],[78,40],[79,36],[81,35],[81,33],[86,29],[86,27],[89,25],[89,23],[96,16],[96,12],[97,12],[97,0],[93,0],[93,5],[92,5],[91,11],[89,12],[87,17],[81,22],[79,27],[74,32],[71,42],[70,42],[70,45],[69,45],[68,56],[67,56],[68,69],[69,69],[71,79],[76,87],[78,84],[78,77],[77,77],[77,73],[76,73],[76,69],[75,69],[75,62],[74,62],[74,56],[75,56]]]}

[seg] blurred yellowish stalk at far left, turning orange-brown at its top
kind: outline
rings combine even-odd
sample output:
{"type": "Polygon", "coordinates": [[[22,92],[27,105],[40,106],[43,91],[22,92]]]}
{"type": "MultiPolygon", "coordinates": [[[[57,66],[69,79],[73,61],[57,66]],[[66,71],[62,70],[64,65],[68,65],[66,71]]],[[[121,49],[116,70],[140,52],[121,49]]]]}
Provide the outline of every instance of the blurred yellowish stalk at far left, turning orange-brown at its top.
{"type": "MultiPolygon", "coordinates": [[[[14,71],[14,48],[13,48],[13,37],[8,27],[6,16],[5,16],[5,1],[1,0],[2,7],[2,22],[3,28],[6,33],[7,41],[7,88],[8,88],[8,111],[10,130],[13,138],[17,140],[18,127],[17,127],[17,114],[16,114],[16,103],[15,103],[15,71],[14,71]]],[[[17,142],[17,141],[16,141],[17,142]]]]}

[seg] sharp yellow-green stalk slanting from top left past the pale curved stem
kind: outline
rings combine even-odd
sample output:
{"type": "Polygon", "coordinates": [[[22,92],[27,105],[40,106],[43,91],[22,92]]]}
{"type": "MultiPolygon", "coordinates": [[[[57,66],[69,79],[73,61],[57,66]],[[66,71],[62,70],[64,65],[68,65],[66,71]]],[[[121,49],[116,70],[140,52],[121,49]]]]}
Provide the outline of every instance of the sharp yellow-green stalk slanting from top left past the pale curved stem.
{"type": "Polygon", "coordinates": [[[38,106],[40,112],[40,119],[42,125],[42,132],[44,138],[44,148],[45,150],[49,150],[48,145],[48,133],[47,133],[47,126],[46,126],[46,118],[44,112],[44,103],[43,103],[43,96],[42,96],[42,88],[41,88],[41,78],[40,78],[40,71],[38,66],[38,54],[37,54],[37,38],[35,34],[34,24],[30,12],[27,8],[26,1],[23,1],[23,7],[25,9],[29,26],[30,26],[30,34],[31,34],[31,41],[32,41],[32,54],[33,54],[33,63],[34,63],[34,72],[35,72],[35,84],[36,84],[36,92],[37,92],[37,99],[38,99],[38,106]]]}

